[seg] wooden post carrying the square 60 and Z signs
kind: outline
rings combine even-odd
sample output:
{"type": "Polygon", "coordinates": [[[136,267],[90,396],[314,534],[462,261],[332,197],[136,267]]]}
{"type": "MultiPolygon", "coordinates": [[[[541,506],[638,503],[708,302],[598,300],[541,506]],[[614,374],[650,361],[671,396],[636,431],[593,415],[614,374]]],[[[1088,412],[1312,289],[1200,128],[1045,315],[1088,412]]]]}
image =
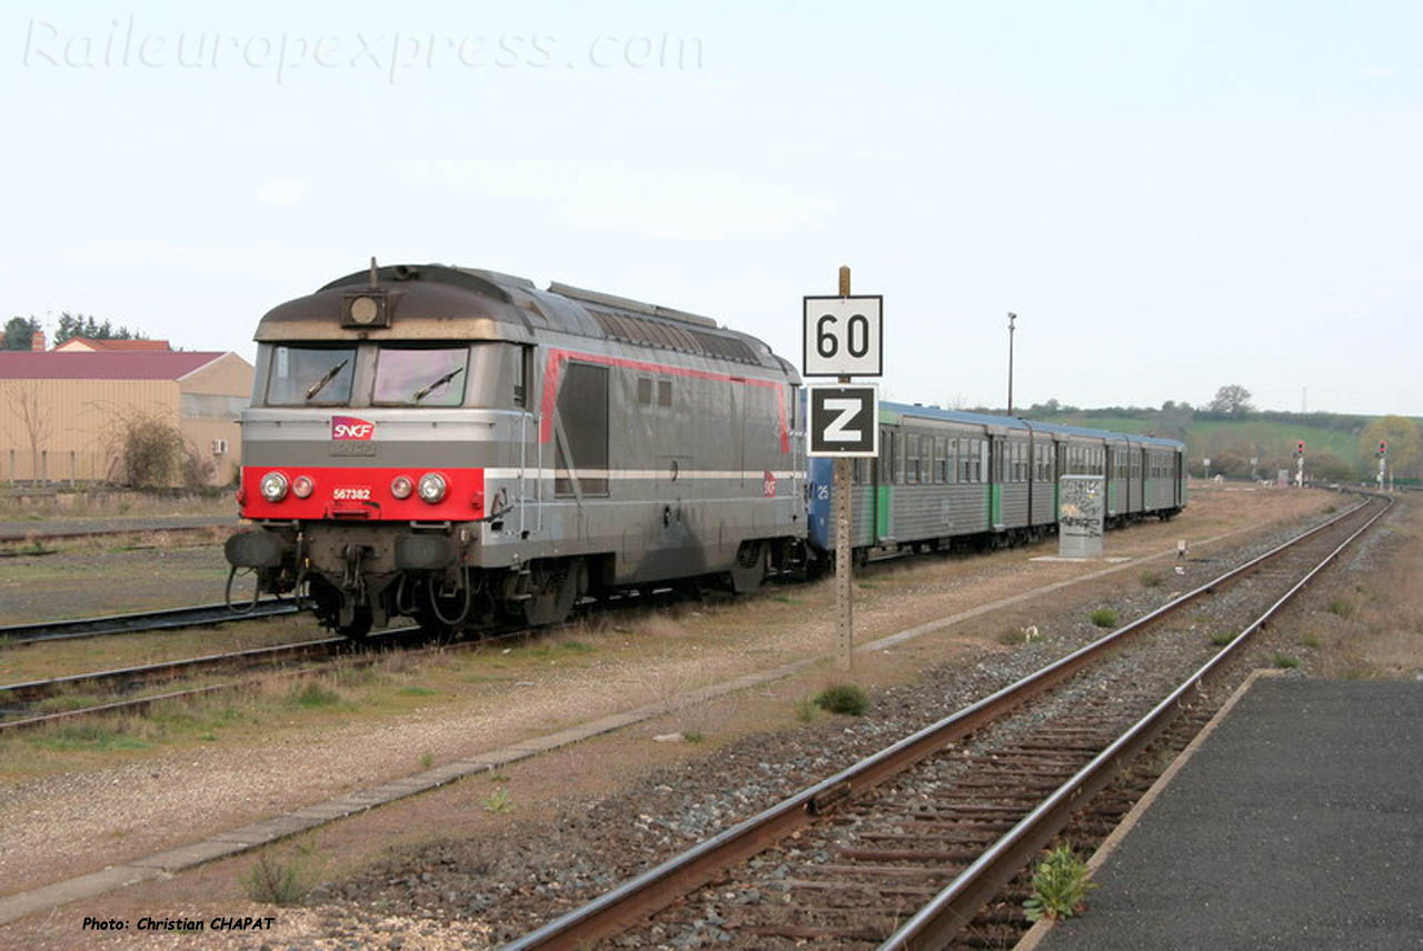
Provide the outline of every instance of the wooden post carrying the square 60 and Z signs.
{"type": "Polygon", "coordinates": [[[801,372],[837,377],[840,387],[808,389],[810,455],[835,458],[835,670],[848,671],[855,647],[851,603],[851,459],[879,448],[879,402],[874,387],[850,387],[852,374],[884,374],[884,299],[852,297],[850,267],[840,267],[838,297],[805,297],[801,372]]]}

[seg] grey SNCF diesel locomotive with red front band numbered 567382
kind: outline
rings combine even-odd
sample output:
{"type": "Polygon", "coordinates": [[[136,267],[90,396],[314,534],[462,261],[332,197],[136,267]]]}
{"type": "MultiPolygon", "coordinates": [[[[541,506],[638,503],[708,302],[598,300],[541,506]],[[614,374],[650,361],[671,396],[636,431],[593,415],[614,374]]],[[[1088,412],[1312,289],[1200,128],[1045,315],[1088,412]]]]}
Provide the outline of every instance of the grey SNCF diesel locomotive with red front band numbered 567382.
{"type": "Polygon", "coordinates": [[[349,635],[548,624],[583,594],[803,556],[795,370],[716,321],[397,266],[268,313],[233,570],[349,635]]]}

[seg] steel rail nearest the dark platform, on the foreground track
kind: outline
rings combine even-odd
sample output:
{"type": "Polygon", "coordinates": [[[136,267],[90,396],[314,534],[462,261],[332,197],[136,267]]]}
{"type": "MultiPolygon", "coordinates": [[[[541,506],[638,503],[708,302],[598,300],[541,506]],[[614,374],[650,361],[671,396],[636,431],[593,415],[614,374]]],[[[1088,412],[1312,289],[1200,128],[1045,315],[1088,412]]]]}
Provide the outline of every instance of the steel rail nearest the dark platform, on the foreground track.
{"type": "Polygon", "coordinates": [[[1225,661],[1235,654],[1251,634],[1264,627],[1286,603],[1294,600],[1319,571],[1331,564],[1340,552],[1349,547],[1375,522],[1383,517],[1392,506],[1393,500],[1389,499],[1387,505],[1339,543],[1322,562],[1271,604],[1264,614],[1251,621],[1215,657],[1157,704],[1150,714],[1127,728],[1116,741],[1097,753],[1091,762],[1044,797],[1037,807],[985,850],[953,881],[945,886],[933,900],[889,935],[879,945],[879,951],[921,951],[924,948],[945,947],[973,920],[978,908],[1010,881],[1067,824],[1072,813],[1084,806],[1091,796],[1111,782],[1123,768],[1131,763],[1137,753],[1175,719],[1185,705],[1188,694],[1202,691],[1207,681],[1225,665],[1225,661]]]}

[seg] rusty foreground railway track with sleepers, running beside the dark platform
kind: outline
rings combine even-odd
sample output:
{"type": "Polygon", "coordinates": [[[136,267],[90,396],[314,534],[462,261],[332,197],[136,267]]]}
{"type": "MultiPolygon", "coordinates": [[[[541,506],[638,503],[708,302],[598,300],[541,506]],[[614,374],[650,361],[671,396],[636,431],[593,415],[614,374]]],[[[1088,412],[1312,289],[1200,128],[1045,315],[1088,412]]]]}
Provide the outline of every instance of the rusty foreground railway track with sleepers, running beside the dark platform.
{"type": "MultiPolygon", "coordinates": [[[[1029,861],[1133,763],[1140,786],[1138,756],[1184,745],[1251,635],[1387,505],[1366,499],[507,947],[694,933],[729,947],[1010,947],[1029,861]],[[1229,638],[1192,624],[1202,601],[1231,618],[1229,638]]],[[[1104,834],[1133,795],[1110,789],[1074,829],[1104,834]]]]}

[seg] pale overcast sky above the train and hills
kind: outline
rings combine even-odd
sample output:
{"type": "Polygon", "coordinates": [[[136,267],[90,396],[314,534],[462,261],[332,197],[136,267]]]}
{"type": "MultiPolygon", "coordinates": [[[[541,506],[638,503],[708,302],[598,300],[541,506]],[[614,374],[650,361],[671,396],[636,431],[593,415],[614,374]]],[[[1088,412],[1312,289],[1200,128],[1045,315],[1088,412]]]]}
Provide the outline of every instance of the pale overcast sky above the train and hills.
{"type": "Polygon", "coordinates": [[[36,0],[0,34],[0,320],[252,360],[374,254],[798,364],[850,264],[888,398],[1003,405],[1012,310],[1017,407],[1423,415],[1423,4],[36,0]]]}

